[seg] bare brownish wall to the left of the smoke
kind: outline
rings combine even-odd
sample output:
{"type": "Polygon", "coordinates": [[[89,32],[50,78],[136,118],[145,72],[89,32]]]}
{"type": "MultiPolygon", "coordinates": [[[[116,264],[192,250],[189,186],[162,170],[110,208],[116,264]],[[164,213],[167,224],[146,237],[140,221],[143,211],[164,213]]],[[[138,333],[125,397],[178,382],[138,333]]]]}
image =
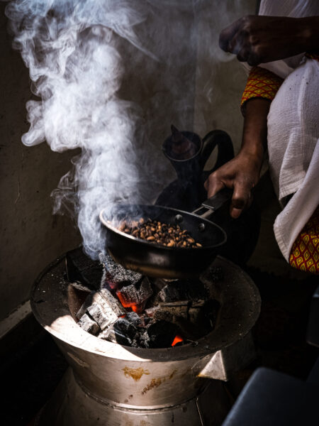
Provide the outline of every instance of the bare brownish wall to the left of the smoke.
{"type": "Polygon", "coordinates": [[[11,49],[4,7],[0,2],[0,320],[28,299],[47,263],[80,241],[69,218],[52,216],[50,200],[74,153],[21,143],[30,81],[20,53],[11,49]]]}

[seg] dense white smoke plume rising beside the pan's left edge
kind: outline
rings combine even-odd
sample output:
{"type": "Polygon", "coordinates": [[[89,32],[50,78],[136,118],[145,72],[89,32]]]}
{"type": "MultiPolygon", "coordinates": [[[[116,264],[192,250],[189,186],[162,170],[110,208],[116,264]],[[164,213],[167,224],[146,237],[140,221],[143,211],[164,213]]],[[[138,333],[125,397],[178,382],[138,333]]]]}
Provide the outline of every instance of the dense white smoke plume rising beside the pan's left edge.
{"type": "Polygon", "coordinates": [[[27,146],[47,141],[53,151],[82,149],[52,196],[54,212],[67,207],[77,215],[92,257],[105,244],[101,208],[145,201],[152,192],[140,170],[141,163],[147,168],[139,157],[145,139],[140,107],[118,97],[124,72],[120,38],[157,60],[134,31],[145,20],[144,3],[24,0],[6,7],[14,47],[40,97],[26,105],[30,129],[22,141],[27,146]]]}

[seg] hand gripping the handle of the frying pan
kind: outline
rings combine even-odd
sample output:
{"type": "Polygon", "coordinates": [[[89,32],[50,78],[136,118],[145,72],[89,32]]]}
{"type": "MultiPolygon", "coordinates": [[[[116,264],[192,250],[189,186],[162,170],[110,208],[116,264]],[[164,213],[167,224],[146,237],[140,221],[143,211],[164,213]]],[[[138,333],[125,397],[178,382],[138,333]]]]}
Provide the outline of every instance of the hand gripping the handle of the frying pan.
{"type": "Polygon", "coordinates": [[[208,198],[224,187],[233,189],[230,203],[230,216],[234,219],[240,216],[242,210],[252,202],[251,190],[259,180],[262,158],[246,153],[239,153],[233,160],[222,165],[208,176],[204,186],[208,198]]]}

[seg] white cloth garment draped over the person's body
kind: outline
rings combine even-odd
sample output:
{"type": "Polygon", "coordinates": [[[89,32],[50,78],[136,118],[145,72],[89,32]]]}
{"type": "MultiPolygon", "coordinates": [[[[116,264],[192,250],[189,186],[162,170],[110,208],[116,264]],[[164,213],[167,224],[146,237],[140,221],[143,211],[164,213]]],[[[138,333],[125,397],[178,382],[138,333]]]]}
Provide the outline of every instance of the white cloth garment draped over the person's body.
{"type": "MultiPolygon", "coordinates": [[[[259,14],[317,16],[319,1],[262,0],[259,14]]],[[[274,234],[289,261],[293,242],[319,204],[319,62],[302,54],[259,66],[285,79],[269,110],[268,151],[274,190],[284,207],[274,234]]]]}

